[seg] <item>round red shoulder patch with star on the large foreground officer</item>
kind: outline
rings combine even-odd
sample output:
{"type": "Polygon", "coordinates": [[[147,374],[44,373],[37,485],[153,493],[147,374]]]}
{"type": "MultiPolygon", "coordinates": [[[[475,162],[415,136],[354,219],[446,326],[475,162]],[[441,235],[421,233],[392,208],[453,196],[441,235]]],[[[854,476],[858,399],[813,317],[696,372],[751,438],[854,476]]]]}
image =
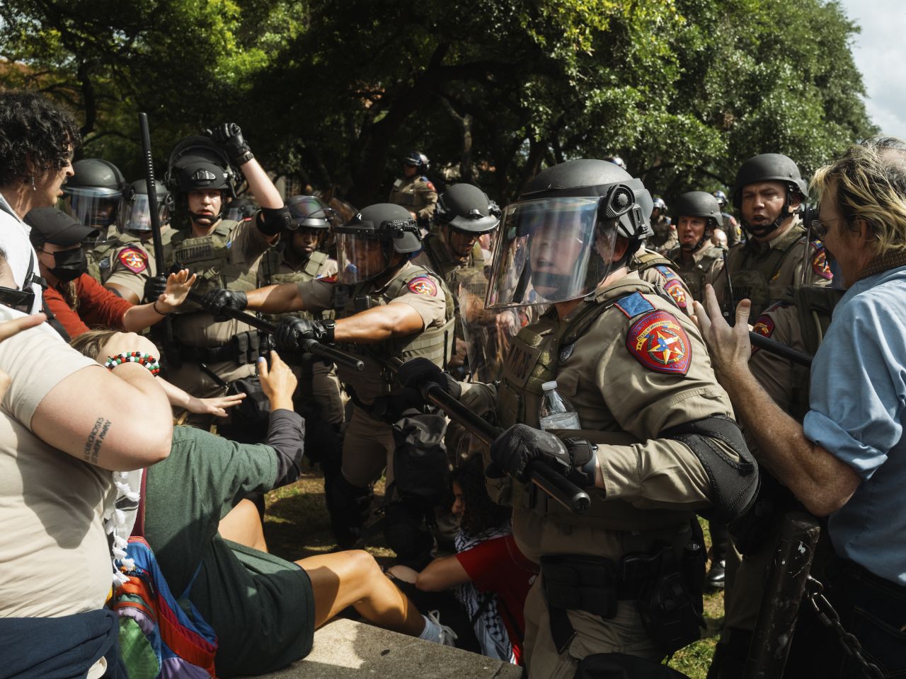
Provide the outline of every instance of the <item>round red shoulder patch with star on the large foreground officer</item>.
{"type": "Polygon", "coordinates": [[[689,371],[689,336],[666,311],[651,311],[632,323],[626,348],[641,365],[655,372],[685,375],[689,371]]]}

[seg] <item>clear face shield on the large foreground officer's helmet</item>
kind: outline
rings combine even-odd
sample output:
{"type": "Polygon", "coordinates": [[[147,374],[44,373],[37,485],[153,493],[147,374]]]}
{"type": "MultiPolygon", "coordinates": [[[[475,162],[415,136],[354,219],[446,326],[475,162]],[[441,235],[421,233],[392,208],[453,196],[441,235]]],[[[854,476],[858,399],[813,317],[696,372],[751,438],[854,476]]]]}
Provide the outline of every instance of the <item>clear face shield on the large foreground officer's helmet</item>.
{"type": "Polygon", "coordinates": [[[488,309],[579,299],[614,269],[617,228],[602,201],[551,197],[507,206],[494,245],[488,309]]]}

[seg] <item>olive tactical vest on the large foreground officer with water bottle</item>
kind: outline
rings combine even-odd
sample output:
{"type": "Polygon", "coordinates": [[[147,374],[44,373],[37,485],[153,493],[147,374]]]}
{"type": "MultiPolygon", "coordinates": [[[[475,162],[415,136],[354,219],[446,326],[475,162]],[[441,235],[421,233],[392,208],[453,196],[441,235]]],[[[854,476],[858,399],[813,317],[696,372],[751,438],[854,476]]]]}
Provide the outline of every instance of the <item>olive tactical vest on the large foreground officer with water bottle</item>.
{"type": "MultiPolygon", "coordinates": [[[[654,285],[640,281],[636,292],[657,294],[654,285]]],[[[620,297],[612,297],[603,290],[582,302],[583,308],[569,322],[557,322],[553,307],[530,326],[516,335],[506,358],[503,382],[497,388],[497,416],[500,425],[506,429],[522,423],[537,428],[538,408],[544,393],[542,385],[557,378],[560,356],[570,350],[573,343],[581,338],[605,311],[624,297],[631,295],[631,288],[620,297]],[[609,297],[611,299],[609,299],[609,297]]],[[[659,295],[660,296],[660,295],[659,295]]],[[[564,432],[566,433],[566,432],[564,432]]],[[[641,443],[628,432],[602,432],[581,429],[568,431],[568,435],[587,438],[592,443],[631,445],[641,443]]],[[[605,501],[604,492],[599,488],[586,488],[592,504],[582,514],[567,510],[558,502],[548,498],[533,485],[524,488],[514,483],[511,502],[521,502],[541,516],[555,515],[558,523],[572,526],[591,526],[606,531],[664,531],[670,535],[689,525],[692,512],[678,512],[666,509],[639,509],[622,500],[605,501]]]]}

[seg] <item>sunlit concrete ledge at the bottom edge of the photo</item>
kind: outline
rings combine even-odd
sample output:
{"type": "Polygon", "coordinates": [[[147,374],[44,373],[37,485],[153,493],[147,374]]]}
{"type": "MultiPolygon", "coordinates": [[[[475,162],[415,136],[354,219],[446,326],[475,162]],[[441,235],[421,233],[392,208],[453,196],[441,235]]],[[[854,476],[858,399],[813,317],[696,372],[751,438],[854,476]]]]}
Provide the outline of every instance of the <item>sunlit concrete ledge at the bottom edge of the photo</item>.
{"type": "Polygon", "coordinates": [[[522,669],[499,660],[421,641],[345,618],[314,633],[304,660],[270,679],[519,679],[522,669]]]}

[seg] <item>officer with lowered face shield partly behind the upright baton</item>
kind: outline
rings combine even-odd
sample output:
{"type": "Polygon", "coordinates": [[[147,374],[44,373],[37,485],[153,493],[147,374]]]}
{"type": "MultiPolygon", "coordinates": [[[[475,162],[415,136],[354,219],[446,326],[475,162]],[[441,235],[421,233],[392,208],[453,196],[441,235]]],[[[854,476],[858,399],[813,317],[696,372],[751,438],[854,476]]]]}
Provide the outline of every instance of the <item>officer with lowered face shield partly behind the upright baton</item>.
{"type": "MultiPolygon", "coordinates": [[[[160,237],[169,243],[173,196],[165,186],[157,186],[160,237]]],[[[88,253],[88,273],[124,300],[138,304],[152,273],[158,272],[151,244],[151,206],[144,179],[127,184],[117,209],[117,231],[107,241],[96,244],[88,253]]],[[[153,294],[149,299],[154,299],[153,294]]]]}

